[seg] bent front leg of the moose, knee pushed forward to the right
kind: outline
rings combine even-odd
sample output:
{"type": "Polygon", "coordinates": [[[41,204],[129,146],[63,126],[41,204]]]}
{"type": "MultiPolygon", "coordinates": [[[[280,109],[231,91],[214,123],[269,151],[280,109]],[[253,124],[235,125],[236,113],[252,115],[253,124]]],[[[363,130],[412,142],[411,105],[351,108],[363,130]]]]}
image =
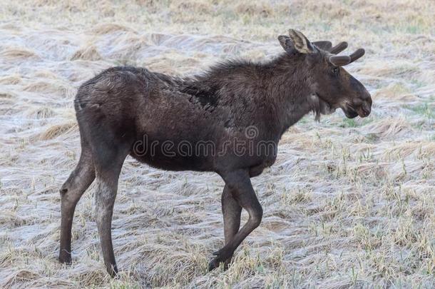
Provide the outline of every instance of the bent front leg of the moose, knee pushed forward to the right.
{"type": "Polygon", "coordinates": [[[235,171],[227,173],[222,177],[224,178],[225,186],[230,190],[235,201],[249,214],[249,219],[223,248],[214,253],[216,257],[208,264],[208,270],[218,268],[220,263],[224,263],[232,257],[232,254],[240,243],[245,240],[252,230],[260,225],[263,213],[260,202],[252,188],[248,171],[235,171]]]}

